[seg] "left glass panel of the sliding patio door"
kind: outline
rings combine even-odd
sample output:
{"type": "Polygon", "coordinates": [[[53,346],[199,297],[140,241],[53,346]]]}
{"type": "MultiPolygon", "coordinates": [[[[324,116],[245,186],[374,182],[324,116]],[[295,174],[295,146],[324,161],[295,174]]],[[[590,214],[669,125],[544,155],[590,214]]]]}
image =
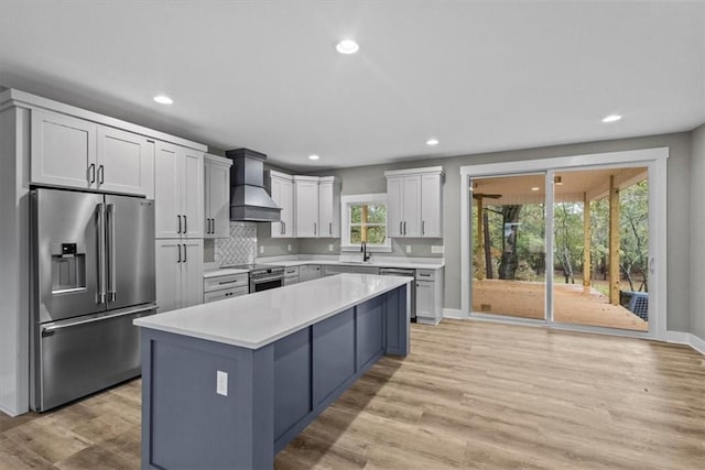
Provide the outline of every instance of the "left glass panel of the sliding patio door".
{"type": "Polygon", "coordinates": [[[471,181],[473,311],[544,319],[545,174],[471,181]]]}

